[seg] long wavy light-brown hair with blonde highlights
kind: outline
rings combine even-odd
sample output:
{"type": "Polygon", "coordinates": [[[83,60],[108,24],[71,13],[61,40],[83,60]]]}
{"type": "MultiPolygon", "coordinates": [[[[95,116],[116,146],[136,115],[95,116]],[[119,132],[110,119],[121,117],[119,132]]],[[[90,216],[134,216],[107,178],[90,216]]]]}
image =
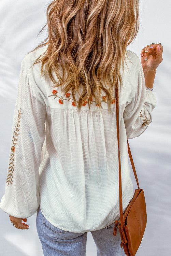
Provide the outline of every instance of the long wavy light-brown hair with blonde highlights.
{"type": "Polygon", "coordinates": [[[65,94],[71,90],[78,110],[85,103],[90,109],[94,97],[100,110],[105,101],[111,113],[118,80],[120,86],[123,84],[119,71],[126,47],[139,30],[139,0],[54,0],[46,16],[48,36],[30,52],[45,45],[47,48],[33,65],[42,63],[41,76],[47,73],[54,88],[61,86],[65,94]]]}

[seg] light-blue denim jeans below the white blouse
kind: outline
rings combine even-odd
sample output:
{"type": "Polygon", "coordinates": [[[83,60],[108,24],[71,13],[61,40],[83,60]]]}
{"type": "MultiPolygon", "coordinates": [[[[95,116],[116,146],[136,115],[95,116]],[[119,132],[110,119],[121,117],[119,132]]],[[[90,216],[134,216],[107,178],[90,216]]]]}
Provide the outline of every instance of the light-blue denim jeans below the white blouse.
{"type": "MultiPolygon", "coordinates": [[[[97,247],[97,256],[125,256],[120,247],[121,238],[117,228],[113,235],[115,223],[90,231],[97,247]]],[[[43,216],[40,206],[37,211],[36,228],[42,244],[44,256],[85,256],[87,232],[74,233],[55,227],[43,216]]]]}

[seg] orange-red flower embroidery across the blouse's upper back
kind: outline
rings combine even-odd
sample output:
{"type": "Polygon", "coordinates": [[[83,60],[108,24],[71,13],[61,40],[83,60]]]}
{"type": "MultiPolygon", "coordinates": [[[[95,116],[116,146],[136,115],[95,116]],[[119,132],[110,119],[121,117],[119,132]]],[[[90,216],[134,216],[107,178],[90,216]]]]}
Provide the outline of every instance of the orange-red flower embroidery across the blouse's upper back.
{"type": "MultiPolygon", "coordinates": [[[[57,93],[58,93],[57,90],[53,90],[53,91],[52,91],[52,95],[48,95],[48,97],[50,97],[50,96],[55,96],[55,98],[58,97],[60,104],[63,104],[63,101],[64,101],[64,100],[68,100],[68,101],[69,101],[69,100],[72,100],[72,105],[73,105],[73,106],[76,106],[76,103],[77,103],[78,101],[74,101],[74,100],[71,98],[71,96],[70,96],[71,94],[70,94],[70,93],[67,93],[67,94],[65,95],[65,97],[66,97],[67,99],[63,98],[62,96],[61,96],[61,98],[60,98],[60,97],[57,95],[57,93]]],[[[54,99],[55,99],[55,98],[54,98],[54,99]]],[[[107,101],[106,101],[106,96],[102,96],[101,98],[102,98],[102,100],[100,101],[100,104],[101,104],[101,102],[107,103],[107,101]]],[[[90,100],[91,100],[90,104],[92,104],[92,102],[96,102],[96,101],[93,101],[93,100],[92,100],[92,97],[90,98],[90,100]]],[[[87,102],[88,102],[88,101],[85,100],[84,103],[82,104],[82,106],[85,106],[85,105],[87,104],[87,102]]],[[[115,103],[115,99],[114,99],[114,98],[113,98],[113,100],[112,100],[111,103],[112,103],[112,104],[115,103]]],[[[99,106],[99,104],[96,104],[96,106],[99,106]]]]}

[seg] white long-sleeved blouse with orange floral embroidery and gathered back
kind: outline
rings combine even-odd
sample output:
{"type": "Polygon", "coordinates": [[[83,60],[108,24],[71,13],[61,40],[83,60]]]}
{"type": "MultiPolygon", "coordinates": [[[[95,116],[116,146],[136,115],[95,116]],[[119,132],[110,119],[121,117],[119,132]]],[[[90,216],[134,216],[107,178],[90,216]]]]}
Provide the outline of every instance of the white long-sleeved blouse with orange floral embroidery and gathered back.
{"type": "MultiPolygon", "coordinates": [[[[118,144],[115,94],[112,114],[106,96],[102,113],[95,99],[76,110],[70,91],[62,95],[41,63],[31,68],[44,47],[22,60],[14,108],[5,194],[0,208],[28,218],[39,207],[54,226],[71,232],[102,229],[119,218],[118,144]]],[[[140,136],[152,122],[153,91],[145,88],[141,61],[127,50],[119,85],[119,133],[123,210],[134,190],[128,165],[127,138],[140,136]]],[[[132,171],[132,169],[131,169],[132,171]]]]}

